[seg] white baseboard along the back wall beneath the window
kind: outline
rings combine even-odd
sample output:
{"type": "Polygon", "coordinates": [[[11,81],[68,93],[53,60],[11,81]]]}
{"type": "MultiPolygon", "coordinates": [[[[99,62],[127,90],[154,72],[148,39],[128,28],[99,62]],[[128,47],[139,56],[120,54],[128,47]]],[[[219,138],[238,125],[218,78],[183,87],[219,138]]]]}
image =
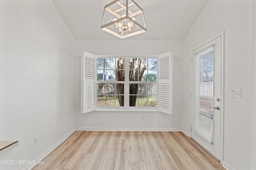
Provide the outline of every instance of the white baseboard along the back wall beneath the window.
{"type": "Polygon", "coordinates": [[[182,131],[181,128],[99,128],[99,127],[77,127],[77,131],[182,131]]]}

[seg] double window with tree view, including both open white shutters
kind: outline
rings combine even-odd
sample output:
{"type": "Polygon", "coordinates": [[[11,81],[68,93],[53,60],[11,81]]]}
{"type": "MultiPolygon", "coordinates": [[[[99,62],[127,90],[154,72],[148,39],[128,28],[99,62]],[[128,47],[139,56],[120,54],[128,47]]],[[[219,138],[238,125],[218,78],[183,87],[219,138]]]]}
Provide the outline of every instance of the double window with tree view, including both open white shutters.
{"type": "Polygon", "coordinates": [[[172,53],[100,56],[82,53],[81,112],[158,110],[172,113],[172,53]]]}

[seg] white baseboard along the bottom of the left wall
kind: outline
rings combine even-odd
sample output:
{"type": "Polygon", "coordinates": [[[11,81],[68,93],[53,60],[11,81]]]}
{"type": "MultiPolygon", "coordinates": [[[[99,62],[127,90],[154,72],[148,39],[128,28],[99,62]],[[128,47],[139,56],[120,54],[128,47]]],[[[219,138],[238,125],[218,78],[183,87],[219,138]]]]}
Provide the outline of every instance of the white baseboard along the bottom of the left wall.
{"type": "MultiPolygon", "coordinates": [[[[74,133],[74,131],[76,131],[75,129],[72,129],[70,132],[68,132],[64,137],[62,137],[60,140],[58,140],[56,143],[54,143],[54,145],[52,145],[52,147],[50,147],[49,149],[47,149],[44,153],[42,153],[40,156],[38,156],[37,158],[35,158],[34,160],[38,160],[41,161],[42,159],[44,159],[48,154],[50,154],[50,152],[52,152],[54,149],[56,149],[62,142],[64,142],[70,135],[72,135],[72,133],[74,133]]],[[[34,166],[36,166],[36,164],[33,165],[28,165],[26,166],[23,170],[30,170],[32,169],[34,166]]]]}

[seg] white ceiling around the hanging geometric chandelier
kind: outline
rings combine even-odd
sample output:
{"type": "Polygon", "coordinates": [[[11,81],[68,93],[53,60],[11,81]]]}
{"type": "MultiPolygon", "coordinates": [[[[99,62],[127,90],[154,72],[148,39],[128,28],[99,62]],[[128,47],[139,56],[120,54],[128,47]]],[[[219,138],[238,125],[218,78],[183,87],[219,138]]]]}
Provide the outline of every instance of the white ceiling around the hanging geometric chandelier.
{"type": "MultiPolygon", "coordinates": [[[[75,39],[120,40],[100,29],[104,6],[113,0],[52,0],[75,39]]],[[[147,32],[125,40],[184,40],[208,0],[135,0],[147,32]]]]}

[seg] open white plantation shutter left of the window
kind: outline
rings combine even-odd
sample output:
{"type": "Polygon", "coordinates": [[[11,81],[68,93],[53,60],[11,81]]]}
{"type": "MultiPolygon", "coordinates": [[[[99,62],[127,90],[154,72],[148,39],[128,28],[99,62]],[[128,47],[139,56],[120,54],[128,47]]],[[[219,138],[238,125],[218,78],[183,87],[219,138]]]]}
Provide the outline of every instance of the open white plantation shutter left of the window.
{"type": "Polygon", "coordinates": [[[81,113],[95,110],[95,77],[95,55],[84,51],[81,57],[81,113]]]}

